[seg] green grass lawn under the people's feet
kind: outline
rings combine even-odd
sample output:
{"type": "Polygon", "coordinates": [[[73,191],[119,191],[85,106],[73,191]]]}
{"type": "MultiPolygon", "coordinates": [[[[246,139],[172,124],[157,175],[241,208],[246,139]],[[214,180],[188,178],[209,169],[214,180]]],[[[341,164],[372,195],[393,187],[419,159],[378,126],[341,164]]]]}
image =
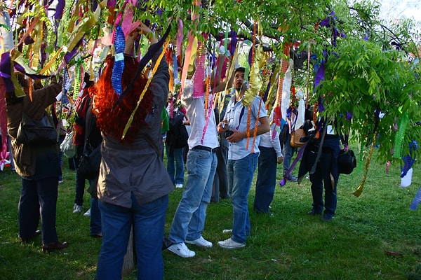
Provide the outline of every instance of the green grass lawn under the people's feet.
{"type": "MultiPolygon", "coordinates": [[[[72,214],[74,171],[67,165],[64,171],[57,231],[61,241],[69,241],[69,248],[50,254],[41,252],[40,237],[20,244],[20,178],[8,168],[0,173],[0,279],[95,279],[101,241],[89,237],[89,218],[72,214]]],[[[277,185],[274,216],[253,213],[253,183],[252,231],[246,248],[227,250],[216,244],[229,237],[222,230],[232,228],[232,207],[229,200],[209,204],[203,237],[213,242],[213,248],[191,245],[196,256],[189,259],[163,251],[165,279],[421,279],[421,206],[409,209],[421,186],[420,173],[415,167],[411,186],[399,188],[399,163],[386,174],[385,165],[372,161],[360,197],[352,193],[363,171],[341,175],[337,214],[329,223],[306,215],[312,208],[309,180],[277,185]]],[[[167,234],[181,195],[182,189],[170,195],[167,234]]],[[[88,193],[84,198],[87,208],[88,193]]],[[[124,279],[136,279],[135,272],[124,279]]]]}

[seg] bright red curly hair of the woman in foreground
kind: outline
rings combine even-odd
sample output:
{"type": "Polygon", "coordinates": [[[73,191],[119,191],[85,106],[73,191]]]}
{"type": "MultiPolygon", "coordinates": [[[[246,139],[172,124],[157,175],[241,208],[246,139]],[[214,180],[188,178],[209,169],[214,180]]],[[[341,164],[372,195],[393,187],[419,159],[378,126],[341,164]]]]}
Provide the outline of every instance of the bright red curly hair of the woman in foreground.
{"type": "MultiPolygon", "coordinates": [[[[145,118],[152,112],[153,93],[149,85],[142,102],[140,102],[138,111],[136,111],[130,128],[126,132],[123,140],[124,127],[138,103],[140,94],[147,83],[147,78],[142,74],[135,80],[131,89],[127,92],[121,103],[112,110],[112,106],[116,102],[118,96],[112,87],[112,68],[114,65],[114,57],[109,57],[108,64],[98,80],[98,83],[90,87],[89,93],[93,99],[93,113],[97,117],[97,125],[105,135],[112,135],[123,143],[131,143],[142,127],[148,127],[145,118]]],[[[121,76],[121,85],[123,90],[133,80],[138,70],[138,61],[130,56],[124,56],[124,71],[121,76]]]]}

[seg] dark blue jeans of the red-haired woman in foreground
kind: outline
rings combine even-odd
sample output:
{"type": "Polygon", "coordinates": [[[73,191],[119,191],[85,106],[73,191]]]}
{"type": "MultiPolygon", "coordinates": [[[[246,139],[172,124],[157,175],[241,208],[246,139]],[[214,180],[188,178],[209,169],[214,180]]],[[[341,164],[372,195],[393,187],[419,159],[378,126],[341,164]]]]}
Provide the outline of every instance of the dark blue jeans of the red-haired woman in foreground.
{"type": "Polygon", "coordinates": [[[132,202],[131,209],[99,202],[102,244],[97,266],[98,280],[121,279],[132,225],[138,279],[163,279],[162,237],[168,195],[142,205],[132,195],[132,202]]]}

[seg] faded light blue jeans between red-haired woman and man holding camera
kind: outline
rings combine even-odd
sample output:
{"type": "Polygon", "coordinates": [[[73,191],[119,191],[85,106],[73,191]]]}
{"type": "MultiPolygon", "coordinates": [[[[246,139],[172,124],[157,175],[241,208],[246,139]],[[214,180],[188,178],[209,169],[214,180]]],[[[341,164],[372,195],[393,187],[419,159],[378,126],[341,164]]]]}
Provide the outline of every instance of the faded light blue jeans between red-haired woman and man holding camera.
{"type": "Polygon", "coordinates": [[[196,240],[201,236],[217,164],[215,153],[189,150],[187,182],[170,230],[170,239],[173,243],[196,240]]]}

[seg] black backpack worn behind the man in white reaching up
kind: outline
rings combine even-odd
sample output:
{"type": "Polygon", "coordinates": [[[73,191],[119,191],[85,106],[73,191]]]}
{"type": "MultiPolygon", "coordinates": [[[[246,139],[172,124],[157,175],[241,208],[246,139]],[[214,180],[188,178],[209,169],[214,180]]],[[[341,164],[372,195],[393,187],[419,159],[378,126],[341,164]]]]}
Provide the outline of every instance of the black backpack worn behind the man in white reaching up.
{"type": "Polygon", "coordinates": [[[180,111],[173,112],[173,118],[168,121],[170,130],[168,130],[166,143],[171,148],[183,148],[187,146],[189,134],[186,126],[182,124],[184,114],[180,111]]]}

